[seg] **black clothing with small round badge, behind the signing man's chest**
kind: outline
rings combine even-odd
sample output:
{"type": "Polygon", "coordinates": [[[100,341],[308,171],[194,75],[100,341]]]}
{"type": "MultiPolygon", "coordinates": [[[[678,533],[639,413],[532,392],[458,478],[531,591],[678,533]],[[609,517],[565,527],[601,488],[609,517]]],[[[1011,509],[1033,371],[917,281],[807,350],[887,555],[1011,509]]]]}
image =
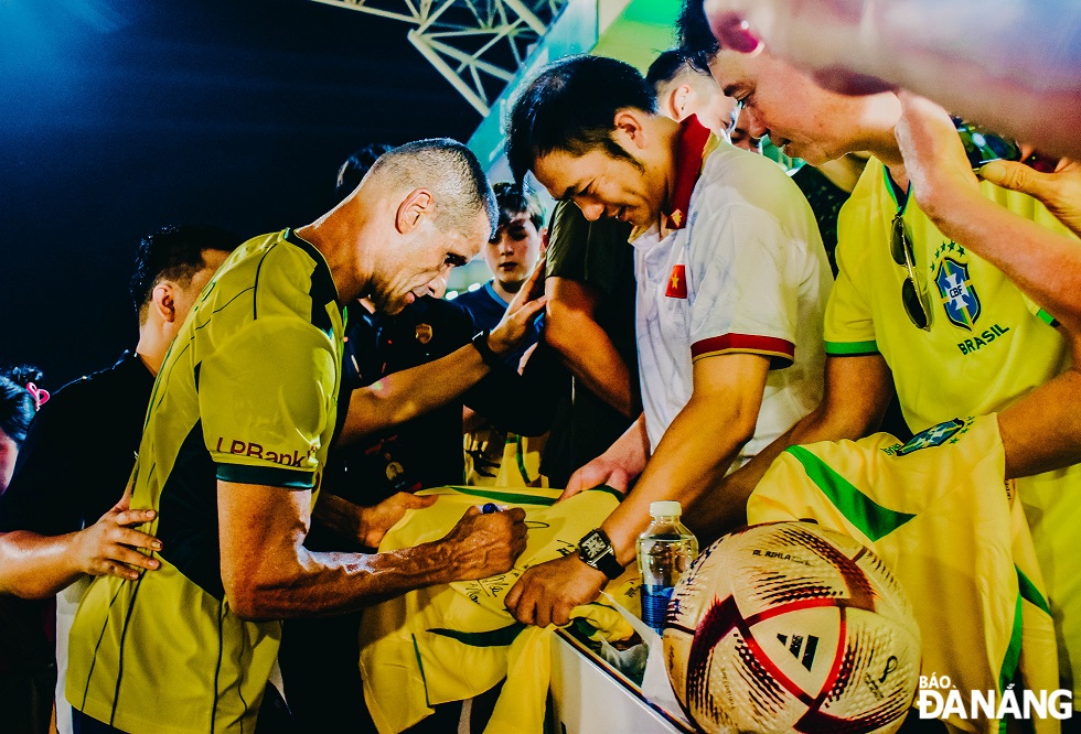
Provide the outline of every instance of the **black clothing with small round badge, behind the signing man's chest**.
{"type": "MultiPolygon", "coordinates": [[[[472,336],[473,322],[463,309],[430,296],[418,299],[395,316],[351,305],[338,399],[339,427],[353,390],[443,357],[472,336]]],[[[460,483],[463,473],[462,401],[452,400],[356,443],[332,446],[321,492],[368,506],[399,490],[460,483]]],[[[366,550],[357,539],[339,536],[318,522],[304,546],[313,551],[366,550]]],[[[367,710],[356,667],[358,624],[358,613],[286,620],[278,661],[300,730],[367,731],[361,723],[367,720],[367,710]],[[318,651],[315,658],[312,650],[318,651]]]]}

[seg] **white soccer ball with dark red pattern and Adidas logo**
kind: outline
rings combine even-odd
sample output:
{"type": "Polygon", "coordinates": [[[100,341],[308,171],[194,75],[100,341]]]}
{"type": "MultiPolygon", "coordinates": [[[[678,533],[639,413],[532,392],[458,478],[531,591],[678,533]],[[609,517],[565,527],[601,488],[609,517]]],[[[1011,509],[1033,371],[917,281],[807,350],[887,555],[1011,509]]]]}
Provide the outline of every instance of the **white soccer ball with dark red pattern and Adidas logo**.
{"type": "Polygon", "coordinates": [[[920,629],[859,542],[772,522],[721,538],[687,570],[664,656],[705,732],[893,732],[916,695],[920,629]]]}

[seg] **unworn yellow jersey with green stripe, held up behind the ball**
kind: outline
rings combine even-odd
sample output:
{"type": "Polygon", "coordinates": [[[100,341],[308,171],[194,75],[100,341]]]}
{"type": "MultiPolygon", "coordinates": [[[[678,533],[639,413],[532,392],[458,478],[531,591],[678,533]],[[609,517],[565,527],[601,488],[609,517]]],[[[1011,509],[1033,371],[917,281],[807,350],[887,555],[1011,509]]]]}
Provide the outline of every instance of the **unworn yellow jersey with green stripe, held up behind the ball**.
{"type": "MultiPolygon", "coordinates": [[[[1020,689],[1050,693],[1059,679],[1047,593],[1005,461],[995,414],[946,421],[906,444],[877,433],[792,446],[751,494],[747,517],[811,519],[859,540],[912,602],[922,676],[949,677],[964,701],[1016,681],[1020,700],[1020,689]]],[[[971,715],[950,723],[1000,728],[971,715]]],[[[1051,717],[1034,724],[1058,731],[1051,717]]]]}

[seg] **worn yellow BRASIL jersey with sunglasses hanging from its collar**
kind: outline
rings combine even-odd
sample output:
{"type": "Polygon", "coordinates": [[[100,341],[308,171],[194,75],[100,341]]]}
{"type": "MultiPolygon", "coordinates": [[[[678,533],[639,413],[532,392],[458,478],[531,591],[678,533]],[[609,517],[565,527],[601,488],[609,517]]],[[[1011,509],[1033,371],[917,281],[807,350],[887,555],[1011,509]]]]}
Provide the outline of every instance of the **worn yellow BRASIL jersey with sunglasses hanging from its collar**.
{"type": "MultiPolygon", "coordinates": [[[[837,220],[839,273],[826,306],[826,354],[881,354],[912,431],[1000,410],[1061,373],[1069,356],[1051,316],[993,265],[943,236],[909,196],[905,225],[918,285],[932,306],[930,332],[912,325],[901,304],[907,269],[890,256],[898,204],[885,171],[875,159],[867,162],[837,220]]],[[[981,186],[1010,212],[1068,231],[1036,199],[981,186]]]]}

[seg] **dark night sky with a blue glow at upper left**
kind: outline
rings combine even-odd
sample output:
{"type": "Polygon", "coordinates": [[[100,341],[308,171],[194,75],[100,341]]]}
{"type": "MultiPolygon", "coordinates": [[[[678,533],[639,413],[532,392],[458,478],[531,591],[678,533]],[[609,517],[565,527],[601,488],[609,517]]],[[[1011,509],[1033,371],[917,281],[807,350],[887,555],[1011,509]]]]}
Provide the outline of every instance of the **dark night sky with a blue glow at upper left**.
{"type": "Polygon", "coordinates": [[[358,145],[468,140],[480,116],[409,28],[308,0],[0,0],[0,364],[55,389],[133,346],[143,234],[306,224],[358,145]]]}

